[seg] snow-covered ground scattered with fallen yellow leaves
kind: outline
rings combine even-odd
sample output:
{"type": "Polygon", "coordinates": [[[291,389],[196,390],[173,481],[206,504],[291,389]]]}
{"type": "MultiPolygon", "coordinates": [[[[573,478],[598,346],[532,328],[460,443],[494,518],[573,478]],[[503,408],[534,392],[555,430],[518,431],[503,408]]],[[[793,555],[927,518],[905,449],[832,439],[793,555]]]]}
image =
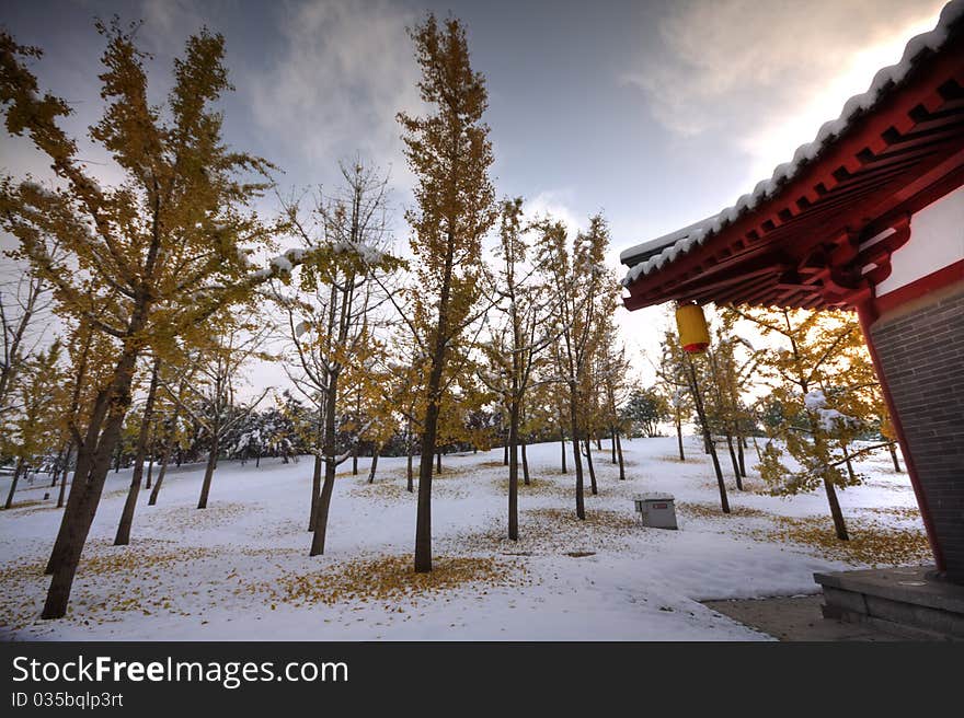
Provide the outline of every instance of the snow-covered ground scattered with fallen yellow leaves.
{"type": "MultiPolygon", "coordinates": [[[[829,528],[823,493],[781,499],[735,490],[724,517],[712,468],[689,440],[626,442],[627,480],[596,454],[599,495],[586,486],[587,521],[575,519],[574,475],[559,471],[559,444],[529,448],[535,478],[520,485],[518,543],[504,537],[507,470],[502,450],[445,458],[433,482],[436,568],[411,574],[415,496],[404,459],[382,459],[374,485],[367,460],[344,471],[332,500],[324,556],[308,557],[311,460],[221,462],[209,508],[194,507],[203,466],[147,491],[133,543],[111,545],[129,471],[111,473],[61,621],[37,618],[42,575],[60,520],[44,476],[0,511],[0,635],[18,639],[291,640],[760,640],[700,600],[814,593],[813,572],[864,565],[835,546],[801,543],[795,530],[829,528]],[[632,496],[676,497],[679,531],[644,529],[632,496]],[[51,499],[43,500],[45,491],[51,499]],[[19,508],[18,508],[19,507],[19,508]],[[789,517],[789,523],[788,518],[789,517]],[[790,529],[788,529],[790,526],[790,529]],[[791,531],[792,533],[792,531],[791,531]],[[790,537],[788,538],[788,535],[790,537]]],[[[750,448],[747,462],[754,454],[750,448]]],[[[724,468],[725,454],[721,456],[724,468]]],[[[920,521],[906,474],[886,453],[861,464],[863,486],[840,493],[856,537],[920,521]]],[[[0,477],[5,495],[9,477],[0,477]]],[[[807,534],[808,535],[808,534],[807,534]]],[[[802,541],[802,540],[801,540],[802,541]]],[[[922,542],[918,542],[922,545],[922,542]]],[[[910,563],[927,560],[926,551],[910,563]]],[[[882,561],[886,563],[886,561],[882,561]]]]}

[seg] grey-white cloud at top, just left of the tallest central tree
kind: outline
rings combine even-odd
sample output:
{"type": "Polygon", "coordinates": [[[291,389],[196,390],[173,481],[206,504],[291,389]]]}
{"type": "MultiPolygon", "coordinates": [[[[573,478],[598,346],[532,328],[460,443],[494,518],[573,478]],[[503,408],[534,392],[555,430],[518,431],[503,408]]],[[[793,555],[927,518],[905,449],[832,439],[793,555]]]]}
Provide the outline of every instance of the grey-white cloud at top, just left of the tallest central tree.
{"type": "Polygon", "coordinates": [[[409,185],[395,114],[421,108],[405,30],[416,20],[385,0],[291,7],[276,59],[245,78],[255,123],[308,165],[329,170],[357,152],[409,185]]]}

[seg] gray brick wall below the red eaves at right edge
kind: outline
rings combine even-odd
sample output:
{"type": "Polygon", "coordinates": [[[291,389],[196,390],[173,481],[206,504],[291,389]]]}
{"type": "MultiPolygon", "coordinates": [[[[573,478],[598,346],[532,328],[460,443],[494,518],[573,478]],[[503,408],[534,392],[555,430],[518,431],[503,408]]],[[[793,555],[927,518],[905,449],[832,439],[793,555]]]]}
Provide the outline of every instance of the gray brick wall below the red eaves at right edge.
{"type": "Polygon", "coordinates": [[[964,583],[964,291],[871,328],[948,578],[964,583]]]}

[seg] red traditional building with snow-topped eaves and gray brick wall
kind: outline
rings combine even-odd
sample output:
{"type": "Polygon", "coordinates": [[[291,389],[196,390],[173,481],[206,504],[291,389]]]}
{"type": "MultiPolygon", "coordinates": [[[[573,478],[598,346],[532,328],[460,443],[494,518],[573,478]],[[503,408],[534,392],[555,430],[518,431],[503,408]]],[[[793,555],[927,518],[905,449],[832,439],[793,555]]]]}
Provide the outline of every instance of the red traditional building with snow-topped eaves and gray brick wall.
{"type": "Polygon", "coordinates": [[[937,574],[964,583],[964,0],[770,180],[621,260],[630,310],[857,311],[937,574]]]}

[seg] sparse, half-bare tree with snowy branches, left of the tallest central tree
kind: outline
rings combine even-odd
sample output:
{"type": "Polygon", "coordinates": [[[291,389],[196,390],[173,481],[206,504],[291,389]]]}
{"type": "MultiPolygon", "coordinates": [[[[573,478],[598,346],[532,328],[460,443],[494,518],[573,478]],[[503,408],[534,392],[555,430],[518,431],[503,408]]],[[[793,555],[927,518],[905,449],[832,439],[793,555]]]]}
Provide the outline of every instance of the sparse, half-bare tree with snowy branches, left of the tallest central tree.
{"type": "Polygon", "coordinates": [[[362,403],[363,397],[375,401],[380,395],[379,378],[372,372],[385,352],[376,336],[377,311],[386,301],[381,288],[387,277],[403,266],[386,251],[387,178],[360,161],[342,164],[341,170],[341,194],[319,197],[308,217],[297,202],[288,204],[296,235],[305,246],[314,246],[315,254],[303,266],[298,296],[277,296],[294,346],[289,377],[312,402],[317,417],[313,431],[307,432],[315,456],[311,556],[324,553],[337,466],[353,455],[368,430],[360,417],[347,420],[351,398],[362,403]]]}

